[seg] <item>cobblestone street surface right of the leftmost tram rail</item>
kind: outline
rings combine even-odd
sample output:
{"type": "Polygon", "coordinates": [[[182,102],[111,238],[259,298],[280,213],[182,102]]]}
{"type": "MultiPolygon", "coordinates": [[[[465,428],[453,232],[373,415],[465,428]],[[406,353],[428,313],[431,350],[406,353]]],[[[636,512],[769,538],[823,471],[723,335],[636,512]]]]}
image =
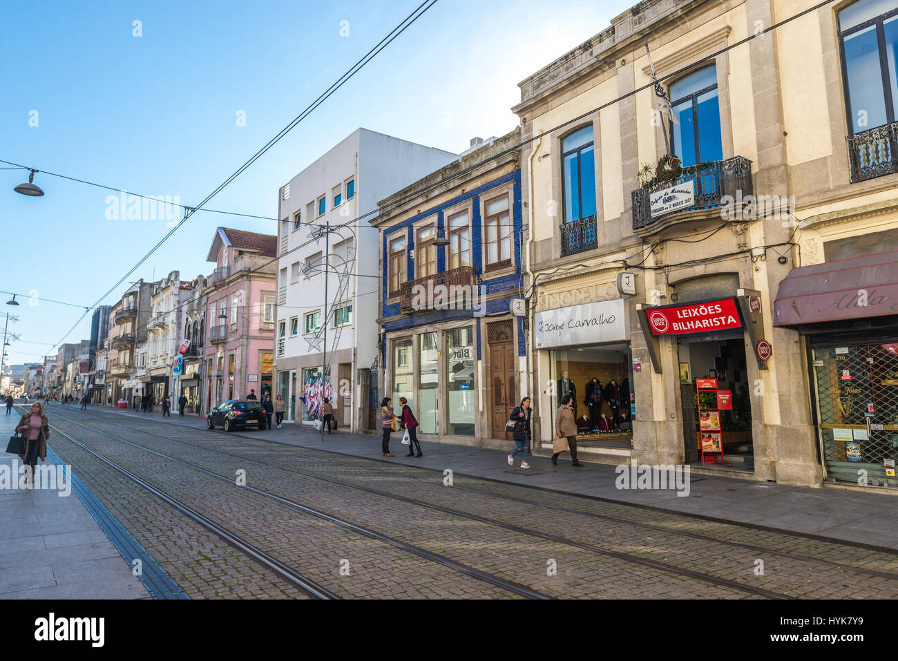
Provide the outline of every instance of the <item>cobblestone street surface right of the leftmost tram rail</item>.
{"type": "MultiPolygon", "coordinates": [[[[898,595],[898,580],[854,569],[895,572],[898,576],[898,556],[849,544],[487,480],[459,477],[453,487],[448,487],[439,472],[223,436],[203,429],[160,426],[102,414],[79,415],[77,419],[216,473],[230,476],[245,471],[250,486],[550,596],[752,596],[675,570],[646,567],[636,559],[796,597],[898,595]],[[372,493],[372,489],[383,493],[372,493]],[[553,538],[546,539],[547,535],[553,538]],[[634,560],[621,559],[621,553],[634,560]]],[[[54,424],[176,493],[206,516],[220,523],[227,521],[229,527],[301,573],[315,580],[330,573],[336,581],[328,586],[340,595],[507,596],[480,581],[467,586],[465,581],[473,580],[470,577],[453,573],[446,576],[444,568],[434,570],[414,556],[398,557],[399,551],[367,538],[349,539],[334,524],[289,510],[109,436],[58,417],[54,424]],[[302,552],[297,552],[300,543],[302,552]],[[349,561],[354,570],[350,577],[334,576],[338,564],[335,558],[349,561]]]]}

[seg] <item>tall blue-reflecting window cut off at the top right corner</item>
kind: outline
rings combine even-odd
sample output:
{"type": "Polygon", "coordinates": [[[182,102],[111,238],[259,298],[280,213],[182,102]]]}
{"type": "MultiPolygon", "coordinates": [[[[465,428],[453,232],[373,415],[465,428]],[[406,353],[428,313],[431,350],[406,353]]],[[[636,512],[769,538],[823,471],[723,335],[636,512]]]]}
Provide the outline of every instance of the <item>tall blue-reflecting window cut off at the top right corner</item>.
{"type": "Polygon", "coordinates": [[[839,12],[851,133],[891,124],[898,115],[898,7],[860,0],[839,12]]]}

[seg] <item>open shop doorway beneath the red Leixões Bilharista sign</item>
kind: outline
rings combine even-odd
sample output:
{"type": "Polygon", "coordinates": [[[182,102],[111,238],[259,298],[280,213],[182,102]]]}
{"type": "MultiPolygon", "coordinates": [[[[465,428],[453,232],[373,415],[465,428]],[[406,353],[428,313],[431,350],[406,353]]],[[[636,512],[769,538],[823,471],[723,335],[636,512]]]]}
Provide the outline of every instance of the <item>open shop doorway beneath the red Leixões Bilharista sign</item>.
{"type": "Polygon", "coordinates": [[[743,335],[700,340],[681,337],[678,349],[687,461],[698,453],[701,432],[719,433],[727,468],[753,471],[752,400],[743,335]],[[717,391],[697,391],[696,379],[717,380],[717,391]],[[720,392],[729,392],[729,401],[726,396],[718,397],[720,392]],[[701,409],[712,411],[704,417],[699,414],[698,397],[702,398],[701,409]],[[685,422],[690,418],[695,420],[691,425],[685,422]]]}

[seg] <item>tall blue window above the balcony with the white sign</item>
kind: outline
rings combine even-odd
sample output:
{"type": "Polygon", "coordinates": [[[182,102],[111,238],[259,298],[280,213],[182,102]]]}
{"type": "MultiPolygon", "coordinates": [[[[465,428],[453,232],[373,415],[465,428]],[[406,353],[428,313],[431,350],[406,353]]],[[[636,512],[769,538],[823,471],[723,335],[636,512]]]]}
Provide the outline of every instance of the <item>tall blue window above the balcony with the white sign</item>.
{"type": "Polygon", "coordinates": [[[683,167],[722,160],[717,66],[700,69],[672,84],[670,97],[680,122],[671,122],[674,154],[683,167]]]}

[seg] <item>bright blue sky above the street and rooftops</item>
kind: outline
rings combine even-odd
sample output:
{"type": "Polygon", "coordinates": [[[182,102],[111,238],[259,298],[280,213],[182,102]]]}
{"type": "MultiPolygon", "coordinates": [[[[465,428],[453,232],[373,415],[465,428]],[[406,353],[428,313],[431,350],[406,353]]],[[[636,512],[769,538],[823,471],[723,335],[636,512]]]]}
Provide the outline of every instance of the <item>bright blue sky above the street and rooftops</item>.
{"type": "MultiPolygon", "coordinates": [[[[418,4],[6,3],[0,159],[197,204],[418,4]]],[[[630,4],[440,0],[207,207],[275,217],[277,189],[360,126],[453,152],[500,136],[517,123],[517,83],[630,4]]],[[[38,293],[36,305],[4,306],[20,316],[13,364],[55,353],[80,316],[41,298],[92,305],[169,230],[109,220],[109,191],[40,173],[43,198],[17,195],[27,174],[0,170],[0,290],[38,293]]],[[[129,279],[209,273],[219,225],[276,232],[274,221],[199,212],[129,279]]],[[[90,316],[66,341],[89,336],[90,316]]]]}

